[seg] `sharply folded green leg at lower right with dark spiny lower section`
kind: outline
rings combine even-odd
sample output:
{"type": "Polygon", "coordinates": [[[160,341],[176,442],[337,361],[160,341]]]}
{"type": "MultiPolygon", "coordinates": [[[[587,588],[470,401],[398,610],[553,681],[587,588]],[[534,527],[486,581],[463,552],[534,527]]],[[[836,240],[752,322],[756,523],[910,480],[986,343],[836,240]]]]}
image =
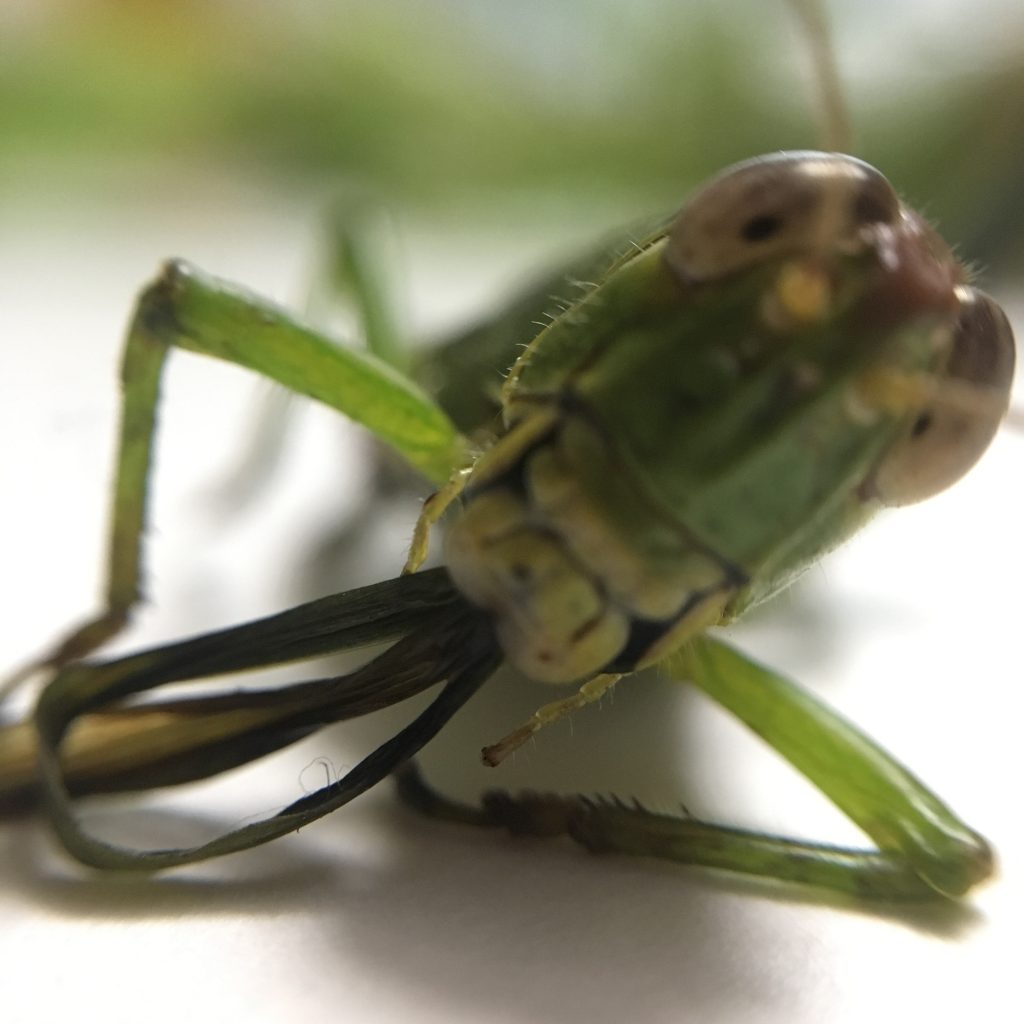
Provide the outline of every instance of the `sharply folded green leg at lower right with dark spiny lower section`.
{"type": "Polygon", "coordinates": [[[992,870],[988,844],[902,765],[794,683],[702,637],[663,664],[733,712],[877,844],[855,849],[732,828],[636,805],[547,794],[447,800],[412,767],[402,799],[436,818],[532,836],[567,835],[590,850],[831,890],[862,899],[958,897],[992,870]]]}

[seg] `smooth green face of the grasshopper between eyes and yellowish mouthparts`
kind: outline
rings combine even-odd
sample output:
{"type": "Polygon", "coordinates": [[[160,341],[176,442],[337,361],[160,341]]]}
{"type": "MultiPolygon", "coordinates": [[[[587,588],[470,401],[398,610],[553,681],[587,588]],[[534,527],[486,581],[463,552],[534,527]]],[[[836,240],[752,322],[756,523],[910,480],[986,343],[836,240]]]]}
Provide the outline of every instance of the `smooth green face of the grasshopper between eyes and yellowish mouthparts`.
{"type": "Polygon", "coordinates": [[[873,511],[861,485],[912,417],[866,407],[858,381],[880,367],[930,369],[944,325],[934,312],[881,313],[884,271],[861,256],[837,261],[827,316],[772,326],[777,262],[682,287],[662,248],[536,339],[509,379],[506,419],[559,409],[561,447],[600,514],[641,558],[685,551],[666,544],[667,528],[714,552],[751,581],[738,608],[873,511]]]}

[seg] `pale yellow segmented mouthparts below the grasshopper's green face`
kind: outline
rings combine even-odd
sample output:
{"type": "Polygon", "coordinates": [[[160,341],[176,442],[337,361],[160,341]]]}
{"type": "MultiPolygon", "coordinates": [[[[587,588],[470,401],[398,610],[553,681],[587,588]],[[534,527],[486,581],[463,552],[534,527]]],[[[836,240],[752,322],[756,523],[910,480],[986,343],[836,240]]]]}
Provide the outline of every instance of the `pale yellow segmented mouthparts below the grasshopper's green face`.
{"type": "Polygon", "coordinates": [[[480,460],[447,539],[452,578],[492,612],[509,660],[543,682],[654,660],[717,621],[742,583],[644,506],[613,453],[595,466],[597,433],[564,410],[527,419],[480,460]]]}

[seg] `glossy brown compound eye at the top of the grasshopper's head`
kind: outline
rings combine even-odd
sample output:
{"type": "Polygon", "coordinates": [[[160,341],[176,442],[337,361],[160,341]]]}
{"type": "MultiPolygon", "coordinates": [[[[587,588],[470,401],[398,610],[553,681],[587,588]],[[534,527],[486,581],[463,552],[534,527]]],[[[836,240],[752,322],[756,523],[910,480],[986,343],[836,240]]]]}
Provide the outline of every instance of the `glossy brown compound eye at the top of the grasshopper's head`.
{"type": "Polygon", "coordinates": [[[849,251],[900,203],[874,168],[831,153],[737,164],[700,189],[669,230],[665,259],[686,283],[713,281],[780,255],[849,251]]]}

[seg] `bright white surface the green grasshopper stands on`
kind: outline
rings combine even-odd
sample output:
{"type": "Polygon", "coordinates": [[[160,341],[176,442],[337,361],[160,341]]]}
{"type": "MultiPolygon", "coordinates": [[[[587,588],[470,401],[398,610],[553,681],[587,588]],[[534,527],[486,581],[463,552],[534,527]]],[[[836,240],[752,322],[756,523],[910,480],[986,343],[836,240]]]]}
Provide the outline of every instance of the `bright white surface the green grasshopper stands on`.
{"type": "MultiPolygon", "coordinates": [[[[140,281],[175,253],[280,298],[301,280],[308,238],[294,211],[249,197],[213,218],[218,197],[191,195],[175,209],[185,188],[168,188],[171,214],[122,200],[121,219],[94,208],[46,229],[39,211],[0,214],[0,666],[94,606],[119,335],[140,281]]],[[[445,276],[443,261],[430,265],[423,292],[445,276]]],[[[182,510],[229,461],[249,389],[237,395],[234,375],[209,364],[176,362],[155,608],[134,643],[290,603],[289,572],[325,515],[310,493],[321,501],[358,486],[317,421],[293,445],[299,468],[268,508],[219,534],[202,515],[187,519],[182,510]],[[197,452],[209,466],[189,465],[197,452]]],[[[879,523],[812,573],[792,618],[750,634],[760,656],[813,684],[991,838],[1001,876],[967,906],[900,914],[770,896],[671,865],[420,821],[385,793],[263,850],[152,881],[85,873],[30,820],[0,826],[4,1020],[1011,1019],[1024,946],[1022,455],[1019,436],[1001,436],[964,484],[879,523]]],[[[470,770],[494,723],[501,731],[519,715],[453,730],[467,738],[452,757],[470,770]]],[[[183,794],[201,817],[166,824],[139,812],[148,838],[266,812],[317,781],[317,756],[334,770],[351,763],[317,739],[213,795],[183,794]]],[[[516,772],[556,756],[592,792],[642,792],[640,776],[667,766],[654,799],[850,835],[732,723],[671,688],[624,689],[539,738],[504,778],[517,784],[516,772]]]]}

